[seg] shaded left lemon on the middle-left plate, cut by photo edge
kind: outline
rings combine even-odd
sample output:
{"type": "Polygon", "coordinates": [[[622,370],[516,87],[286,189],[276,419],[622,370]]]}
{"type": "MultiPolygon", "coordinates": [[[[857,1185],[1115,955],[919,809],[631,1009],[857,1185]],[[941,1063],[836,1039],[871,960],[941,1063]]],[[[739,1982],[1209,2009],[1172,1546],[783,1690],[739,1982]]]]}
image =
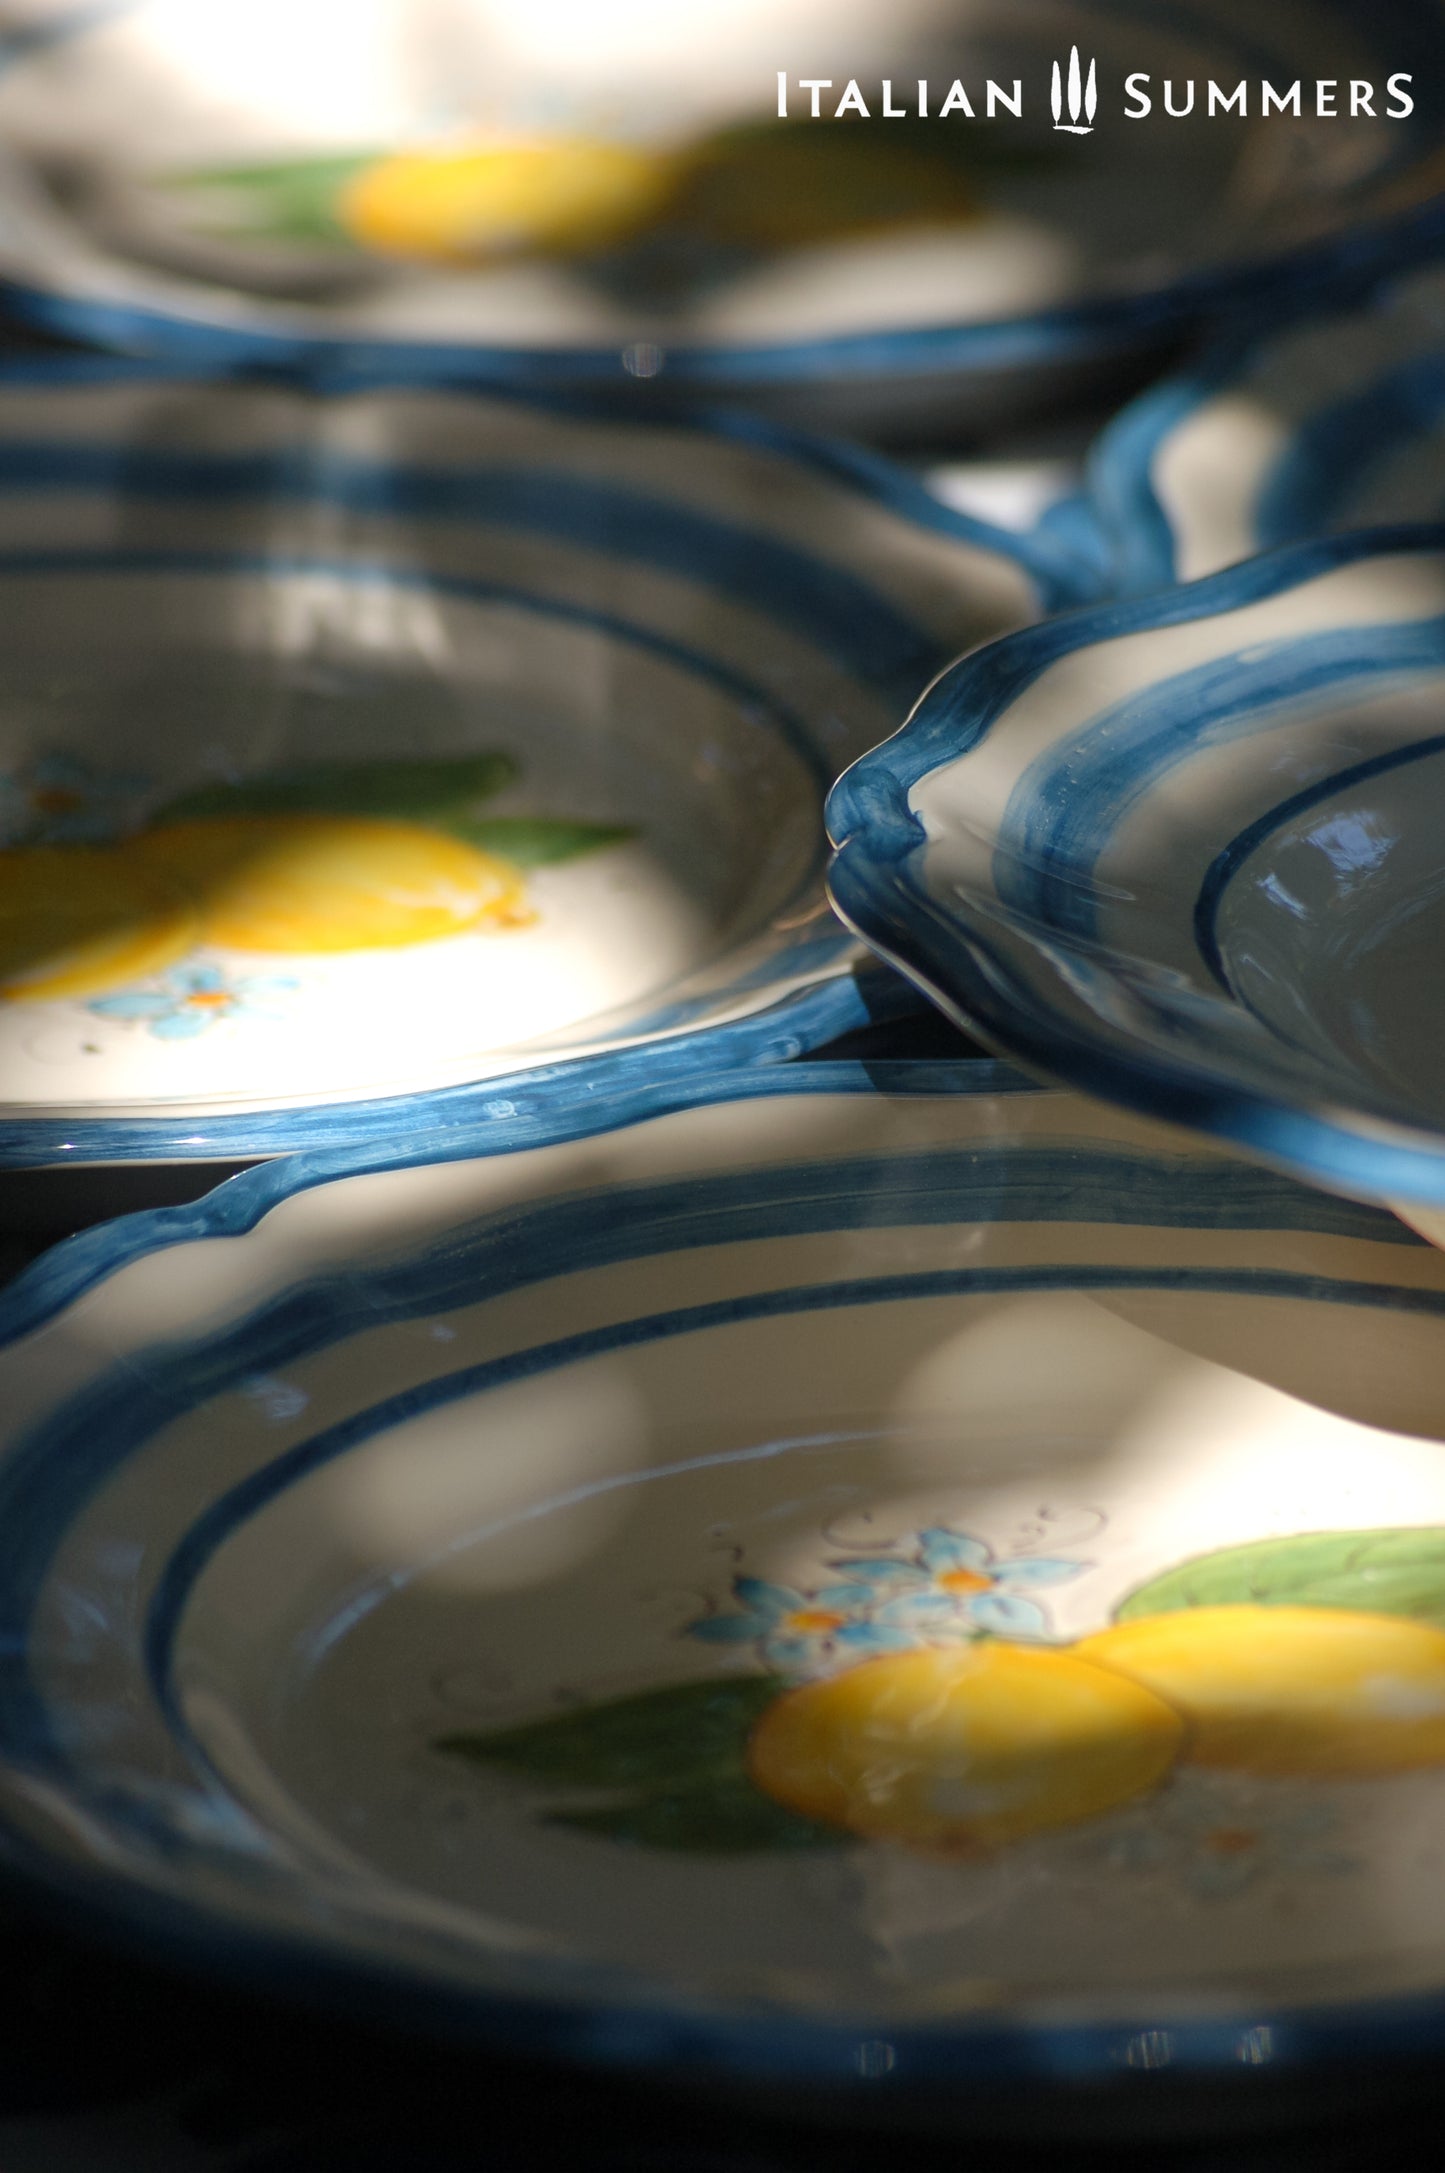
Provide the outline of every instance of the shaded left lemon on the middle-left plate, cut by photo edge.
{"type": "Polygon", "coordinates": [[[87,997],[172,965],[196,910],[161,869],[102,845],[0,854],[0,993],[87,997]]]}

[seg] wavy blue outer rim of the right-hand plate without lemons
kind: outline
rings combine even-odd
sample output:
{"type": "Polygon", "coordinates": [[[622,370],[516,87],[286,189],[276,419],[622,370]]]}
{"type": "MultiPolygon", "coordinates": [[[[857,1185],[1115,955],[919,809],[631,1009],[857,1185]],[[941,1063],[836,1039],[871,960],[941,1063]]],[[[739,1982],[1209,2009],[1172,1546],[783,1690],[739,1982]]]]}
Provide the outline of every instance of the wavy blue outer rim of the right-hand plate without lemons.
{"type": "MultiPolygon", "coordinates": [[[[1249,1154],[1312,1182],[1373,1199],[1445,1204],[1445,1139],[1423,1128],[1352,1117],[1315,1080],[1295,1097],[1276,1078],[1221,1080],[1202,1043],[1176,1043],[1163,1058],[1117,1047],[1067,1015],[1052,980],[1067,989],[1078,954],[1054,956],[1047,943],[1004,956],[954,904],[934,900],[921,880],[923,828],[908,806],[913,787],[976,748],[993,721],[1052,663],[1076,650],[1145,628],[1193,624],[1312,580],[1339,565],[1391,554],[1445,552],[1445,528],[1399,526],[1291,545],[1226,567],[1206,580],[1158,595],[1078,611],[965,656],[928,691],[891,741],[854,763],[828,797],[837,843],[828,887],[839,915],[965,1030],[1032,1069],[1134,1108],[1145,1117],[1228,1139],[1249,1154]]],[[[1106,971],[1104,971],[1106,978],[1106,971]]]]}

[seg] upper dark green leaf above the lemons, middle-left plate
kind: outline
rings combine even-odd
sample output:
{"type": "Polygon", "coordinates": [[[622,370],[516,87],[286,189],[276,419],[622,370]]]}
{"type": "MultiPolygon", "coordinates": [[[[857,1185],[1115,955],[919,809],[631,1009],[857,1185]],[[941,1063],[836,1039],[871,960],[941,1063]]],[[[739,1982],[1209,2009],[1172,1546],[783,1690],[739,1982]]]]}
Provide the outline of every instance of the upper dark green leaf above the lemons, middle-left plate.
{"type": "Polygon", "coordinates": [[[172,800],[156,826],[215,815],[389,815],[454,828],[517,776],[511,754],[443,761],[298,763],[235,784],[202,784],[172,800]]]}

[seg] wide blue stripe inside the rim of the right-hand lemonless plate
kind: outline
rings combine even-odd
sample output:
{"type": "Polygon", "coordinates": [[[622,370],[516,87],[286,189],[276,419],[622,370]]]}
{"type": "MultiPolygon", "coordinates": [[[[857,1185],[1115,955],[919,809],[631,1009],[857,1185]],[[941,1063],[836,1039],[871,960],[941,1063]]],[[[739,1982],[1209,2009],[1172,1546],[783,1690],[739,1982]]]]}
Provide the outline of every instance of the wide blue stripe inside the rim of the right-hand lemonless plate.
{"type": "Polygon", "coordinates": [[[1310,700],[1443,669],[1445,615],[1252,643],[1154,680],[1063,732],[1019,776],[993,854],[997,897],[1067,934],[1097,937],[1097,865],[1173,769],[1289,724],[1310,700]]]}

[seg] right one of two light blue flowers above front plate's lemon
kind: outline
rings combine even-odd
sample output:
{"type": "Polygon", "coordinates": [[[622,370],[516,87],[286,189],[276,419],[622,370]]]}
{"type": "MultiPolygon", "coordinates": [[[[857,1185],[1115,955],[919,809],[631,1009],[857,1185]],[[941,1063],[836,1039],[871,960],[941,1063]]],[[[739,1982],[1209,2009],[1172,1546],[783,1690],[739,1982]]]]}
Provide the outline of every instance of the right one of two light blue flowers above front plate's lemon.
{"type": "Polygon", "coordinates": [[[1078,1578],[1089,1562],[1047,1554],[1000,1558],[971,1532],[932,1525],[917,1534],[913,1558],[869,1556],[832,1567],[869,1586],[876,1628],[910,1634],[919,1645],[980,1630],[1047,1636],[1047,1615],[1026,1595],[1078,1578]]]}

